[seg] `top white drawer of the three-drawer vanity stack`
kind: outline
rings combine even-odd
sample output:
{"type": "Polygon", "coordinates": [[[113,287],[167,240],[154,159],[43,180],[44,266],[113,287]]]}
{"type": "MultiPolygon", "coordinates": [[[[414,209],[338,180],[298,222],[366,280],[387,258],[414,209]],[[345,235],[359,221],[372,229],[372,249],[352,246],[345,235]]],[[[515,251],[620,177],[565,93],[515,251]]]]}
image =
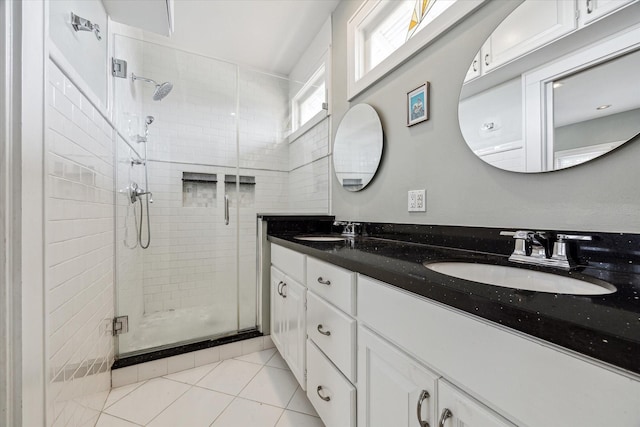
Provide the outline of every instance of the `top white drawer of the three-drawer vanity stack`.
{"type": "Polygon", "coordinates": [[[307,288],[342,311],[355,315],[355,273],[307,258],[307,288]]]}

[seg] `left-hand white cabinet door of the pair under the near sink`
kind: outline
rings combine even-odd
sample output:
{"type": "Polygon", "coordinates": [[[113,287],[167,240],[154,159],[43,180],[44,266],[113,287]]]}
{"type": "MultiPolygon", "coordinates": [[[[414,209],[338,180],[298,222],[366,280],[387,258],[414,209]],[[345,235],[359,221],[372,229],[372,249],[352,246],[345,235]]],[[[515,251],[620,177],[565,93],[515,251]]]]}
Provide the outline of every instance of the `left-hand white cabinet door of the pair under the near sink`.
{"type": "Polygon", "coordinates": [[[436,374],[404,352],[358,328],[359,426],[436,425],[437,381],[436,374]]]}

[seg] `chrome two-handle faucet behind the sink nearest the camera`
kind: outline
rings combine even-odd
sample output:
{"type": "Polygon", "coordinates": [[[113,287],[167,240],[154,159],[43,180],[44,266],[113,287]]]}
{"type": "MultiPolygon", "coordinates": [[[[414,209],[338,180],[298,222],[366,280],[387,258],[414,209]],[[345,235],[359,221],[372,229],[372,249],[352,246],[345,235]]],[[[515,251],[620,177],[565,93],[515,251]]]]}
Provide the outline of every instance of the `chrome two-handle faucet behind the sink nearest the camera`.
{"type": "Polygon", "coordinates": [[[543,231],[501,231],[501,236],[511,236],[515,239],[515,248],[509,261],[521,264],[544,265],[547,267],[572,270],[578,267],[578,262],[571,258],[567,250],[567,241],[593,240],[591,236],[573,234],[557,234],[556,240],[547,236],[543,231]],[[551,242],[553,241],[553,250],[551,242]]]}

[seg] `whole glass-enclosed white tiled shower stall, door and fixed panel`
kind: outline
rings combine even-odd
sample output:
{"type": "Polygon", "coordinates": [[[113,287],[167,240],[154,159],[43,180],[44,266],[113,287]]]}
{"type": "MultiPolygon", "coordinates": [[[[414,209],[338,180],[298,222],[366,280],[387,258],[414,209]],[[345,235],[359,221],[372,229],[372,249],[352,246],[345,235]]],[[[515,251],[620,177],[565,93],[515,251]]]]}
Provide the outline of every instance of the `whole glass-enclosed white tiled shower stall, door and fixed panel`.
{"type": "Polygon", "coordinates": [[[256,330],[256,213],[287,208],[288,81],[123,35],[114,56],[119,357],[256,330]],[[134,184],[153,194],[142,218],[134,184]]]}

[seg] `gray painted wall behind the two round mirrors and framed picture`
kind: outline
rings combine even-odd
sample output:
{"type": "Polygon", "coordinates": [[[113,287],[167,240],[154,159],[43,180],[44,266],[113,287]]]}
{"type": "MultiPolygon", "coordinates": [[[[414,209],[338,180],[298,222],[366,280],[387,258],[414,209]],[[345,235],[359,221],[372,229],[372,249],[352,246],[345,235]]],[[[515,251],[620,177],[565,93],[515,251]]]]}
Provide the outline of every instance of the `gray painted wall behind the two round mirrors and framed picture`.
{"type": "MultiPolygon", "coordinates": [[[[513,9],[493,0],[376,85],[347,102],[347,21],[360,4],[344,0],[333,16],[332,129],[351,105],[371,104],[385,132],[378,175],[363,191],[333,177],[339,219],[416,224],[640,232],[640,143],[585,165],[545,174],[496,169],[475,157],[458,126],[458,95],[483,41],[513,9]],[[431,82],[431,118],[405,126],[406,93],[431,82]],[[407,190],[427,190],[427,212],[407,212],[407,190]]],[[[509,4],[511,3],[511,4],[509,4]]]]}

